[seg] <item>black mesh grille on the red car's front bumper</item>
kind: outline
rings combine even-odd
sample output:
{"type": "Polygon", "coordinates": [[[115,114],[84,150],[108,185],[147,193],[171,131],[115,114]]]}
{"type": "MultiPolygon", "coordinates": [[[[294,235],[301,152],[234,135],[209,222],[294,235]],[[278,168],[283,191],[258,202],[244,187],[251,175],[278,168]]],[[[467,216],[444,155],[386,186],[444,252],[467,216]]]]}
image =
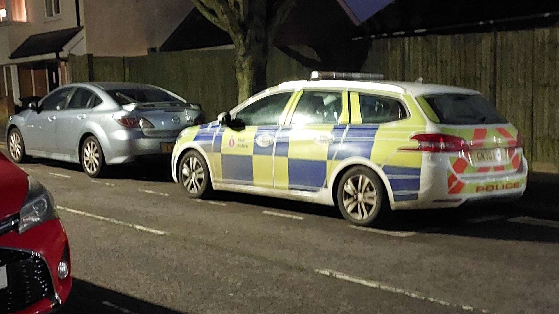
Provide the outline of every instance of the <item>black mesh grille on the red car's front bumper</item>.
{"type": "Polygon", "coordinates": [[[8,287],[0,290],[0,314],[12,313],[54,297],[46,263],[29,252],[0,249],[0,266],[6,266],[8,287]]]}

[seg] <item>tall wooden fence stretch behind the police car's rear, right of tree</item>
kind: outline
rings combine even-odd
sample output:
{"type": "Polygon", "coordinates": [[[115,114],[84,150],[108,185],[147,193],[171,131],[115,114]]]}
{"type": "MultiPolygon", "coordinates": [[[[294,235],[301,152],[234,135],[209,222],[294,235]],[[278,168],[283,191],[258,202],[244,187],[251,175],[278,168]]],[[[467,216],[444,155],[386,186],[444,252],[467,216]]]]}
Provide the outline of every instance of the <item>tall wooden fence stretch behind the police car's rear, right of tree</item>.
{"type": "Polygon", "coordinates": [[[379,39],[363,72],[479,90],[520,130],[530,170],[559,172],[559,29],[379,39]]]}

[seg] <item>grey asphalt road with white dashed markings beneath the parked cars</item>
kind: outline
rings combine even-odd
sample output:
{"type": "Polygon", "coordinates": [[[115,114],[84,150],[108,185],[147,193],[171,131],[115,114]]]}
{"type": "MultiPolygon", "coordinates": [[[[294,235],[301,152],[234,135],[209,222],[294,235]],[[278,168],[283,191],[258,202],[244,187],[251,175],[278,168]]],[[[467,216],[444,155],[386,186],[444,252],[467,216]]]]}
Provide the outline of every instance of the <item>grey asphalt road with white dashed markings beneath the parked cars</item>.
{"type": "Polygon", "coordinates": [[[95,180],[70,163],[20,165],[53,193],[68,233],[74,287],[60,313],[559,312],[553,179],[530,177],[513,204],[354,228],[333,207],[188,199],[168,163],[95,180]]]}

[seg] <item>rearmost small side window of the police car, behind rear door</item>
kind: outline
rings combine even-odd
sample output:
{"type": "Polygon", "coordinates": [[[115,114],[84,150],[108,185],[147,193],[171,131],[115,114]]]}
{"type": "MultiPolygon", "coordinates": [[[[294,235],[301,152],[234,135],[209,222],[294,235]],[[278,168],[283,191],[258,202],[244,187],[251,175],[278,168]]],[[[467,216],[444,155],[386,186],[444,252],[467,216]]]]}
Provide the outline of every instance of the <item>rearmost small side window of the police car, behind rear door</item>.
{"type": "Polygon", "coordinates": [[[382,96],[359,95],[362,123],[385,123],[408,116],[400,101],[382,96]]]}

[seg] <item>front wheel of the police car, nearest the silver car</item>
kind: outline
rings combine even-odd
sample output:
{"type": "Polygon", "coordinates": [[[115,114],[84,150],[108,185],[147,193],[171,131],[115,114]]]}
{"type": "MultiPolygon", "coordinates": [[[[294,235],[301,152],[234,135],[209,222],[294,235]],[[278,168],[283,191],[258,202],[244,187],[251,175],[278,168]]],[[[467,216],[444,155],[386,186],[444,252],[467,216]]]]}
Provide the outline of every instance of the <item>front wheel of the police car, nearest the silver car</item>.
{"type": "Polygon", "coordinates": [[[205,198],[213,191],[210,170],[202,154],[197,151],[184,154],[179,164],[178,177],[190,198],[205,198]]]}

